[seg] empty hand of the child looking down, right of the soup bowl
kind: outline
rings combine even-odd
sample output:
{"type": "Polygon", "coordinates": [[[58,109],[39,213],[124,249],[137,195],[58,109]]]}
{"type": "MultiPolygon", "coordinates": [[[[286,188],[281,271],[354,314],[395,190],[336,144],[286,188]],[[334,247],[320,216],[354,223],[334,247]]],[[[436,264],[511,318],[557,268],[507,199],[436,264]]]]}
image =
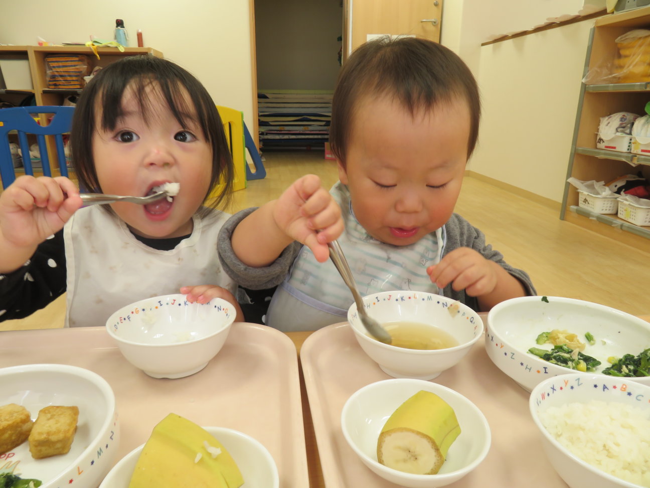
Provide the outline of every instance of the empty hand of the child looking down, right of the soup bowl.
{"type": "Polygon", "coordinates": [[[438,288],[453,282],[454,290],[465,290],[467,295],[477,297],[483,312],[504,300],[527,294],[517,278],[469,247],[454,249],[426,272],[438,288]]]}

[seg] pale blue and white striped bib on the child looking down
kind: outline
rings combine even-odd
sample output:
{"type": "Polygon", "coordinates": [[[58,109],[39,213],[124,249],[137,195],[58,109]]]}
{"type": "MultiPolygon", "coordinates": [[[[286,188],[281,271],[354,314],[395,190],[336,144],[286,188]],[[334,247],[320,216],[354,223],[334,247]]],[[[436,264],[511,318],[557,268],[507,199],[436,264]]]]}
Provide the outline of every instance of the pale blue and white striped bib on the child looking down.
{"type": "MultiPolygon", "coordinates": [[[[426,268],[440,261],[443,228],[408,246],[385,244],[370,236],[357,222],[350,206],[350,191],[345,185],[336,183],[330,194],[341,206],[345,231],[337,240],[361,295],[390,290],[438,293],[426,268]]],[[[354,303],[352,293],[331,260],[318,263],[306,246],[282,287],[301,301],[330,313],[347,312],[354,303]]]]}

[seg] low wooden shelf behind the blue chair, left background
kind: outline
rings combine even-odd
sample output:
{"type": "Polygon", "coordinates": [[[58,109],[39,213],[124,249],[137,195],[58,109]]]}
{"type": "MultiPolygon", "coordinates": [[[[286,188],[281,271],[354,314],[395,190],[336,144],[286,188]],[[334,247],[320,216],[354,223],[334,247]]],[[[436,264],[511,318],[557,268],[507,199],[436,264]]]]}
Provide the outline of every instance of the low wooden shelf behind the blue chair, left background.
{"type": "MultiPolygon", "coordinates": [[[[85,46],[0,46],[0,59],[28,59],[29,68],[32,74],[32,90],[0,90],[0,100],[18,103],[26,96],[34,95],[36,105],[62,105],[65,96],[81,94],[81,90],[52,90],[47,88],[45,81],[45,56],[49,54],[85,54],[92,62],[92,66],[108,66],[112,62],[119,61],[125,56],[151,54],[162,57],[161,51],[152,47],[125,47],[124,52],[116,47],[98,47],[99,59],[95,56],[90,47],[85,46]]],[[[47,114],[40,114],[40,123],[47,124],[47,114]]],[[[31,136],[28,136],[31,137],[31,136]]],[[[58,174],[59,161],[55,148],[54,138],[46,136],[47,153],[52,165],[53,173],[58,174]]],[[[30,144],[36,142],[36,138],[29,139],[30,144]]]]}

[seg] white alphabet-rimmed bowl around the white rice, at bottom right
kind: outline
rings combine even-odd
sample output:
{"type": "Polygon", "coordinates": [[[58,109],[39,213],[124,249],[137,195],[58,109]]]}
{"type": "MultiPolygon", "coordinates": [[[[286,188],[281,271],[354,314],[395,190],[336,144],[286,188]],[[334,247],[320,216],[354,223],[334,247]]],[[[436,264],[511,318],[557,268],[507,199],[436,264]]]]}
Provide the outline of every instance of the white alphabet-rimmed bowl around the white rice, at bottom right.
{"type": "Polygon", "coordinates": [[[556,441],[539,421],[539,412],[565,403],[589,403],[591,400],[625,403],[650,411],[650,387],[630,378],[590,373],[570,373],[547,378],[530,394],[530,414],[541,434],[541,444],[551,465],[571,488],[638,488],[582,461],[556,441]]]}

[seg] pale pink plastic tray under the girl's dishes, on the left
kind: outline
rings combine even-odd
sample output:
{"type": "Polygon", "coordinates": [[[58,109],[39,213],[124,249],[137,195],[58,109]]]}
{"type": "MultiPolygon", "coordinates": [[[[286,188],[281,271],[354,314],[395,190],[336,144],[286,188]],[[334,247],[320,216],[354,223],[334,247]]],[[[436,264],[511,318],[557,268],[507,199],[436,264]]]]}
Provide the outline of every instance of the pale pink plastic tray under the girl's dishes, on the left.
{"type": "Polygon", "coordinates": [[[104,327],[0,332],[1,368],[40,363],[79,366],[109,382],[121,421],[116,461],[173,412],[252,436],[276,461],[281,487],[309,486],[296,347],[275,329],[233,324],[205,369],[181,379],[153,379],[132,366],[104,327]]]}

